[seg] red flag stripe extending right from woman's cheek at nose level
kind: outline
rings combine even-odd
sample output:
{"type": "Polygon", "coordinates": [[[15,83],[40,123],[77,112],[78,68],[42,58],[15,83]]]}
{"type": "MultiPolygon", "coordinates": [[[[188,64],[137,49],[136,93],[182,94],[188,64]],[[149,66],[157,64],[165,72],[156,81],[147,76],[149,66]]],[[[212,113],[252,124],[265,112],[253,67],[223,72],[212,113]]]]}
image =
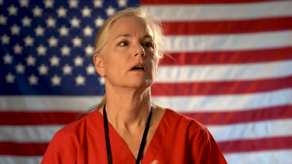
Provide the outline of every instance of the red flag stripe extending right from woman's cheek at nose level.
{"type": "Polygon", "coordinates": [[[292,59],[292,47],[213,51],[213,52],[179,52],[169,53],[161,60],[160,65],[206,65],[257,63],[292,59]]]}

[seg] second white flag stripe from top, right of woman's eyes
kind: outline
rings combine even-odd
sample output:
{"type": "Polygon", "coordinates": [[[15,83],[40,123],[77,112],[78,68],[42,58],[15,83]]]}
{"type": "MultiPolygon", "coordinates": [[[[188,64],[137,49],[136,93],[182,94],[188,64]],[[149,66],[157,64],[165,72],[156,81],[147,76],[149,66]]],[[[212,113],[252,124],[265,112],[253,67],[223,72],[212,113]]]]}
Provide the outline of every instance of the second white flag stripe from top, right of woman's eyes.
{"type": "Polygon", "coordinates": [[[222,51],[292,45],[292,31],[227,35],[166,36],[165,52],[222,51]]]}

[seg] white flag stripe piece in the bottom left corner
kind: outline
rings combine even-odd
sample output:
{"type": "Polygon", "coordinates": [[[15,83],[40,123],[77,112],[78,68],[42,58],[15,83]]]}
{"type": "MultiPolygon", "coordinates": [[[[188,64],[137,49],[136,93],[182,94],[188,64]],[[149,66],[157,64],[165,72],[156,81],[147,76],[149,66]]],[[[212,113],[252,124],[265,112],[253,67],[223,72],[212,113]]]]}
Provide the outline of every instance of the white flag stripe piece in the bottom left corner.
{"type": "Polygon", "coordinates": [[[40,164],[43,156],[1,156],[0,164],[40,164]]]}

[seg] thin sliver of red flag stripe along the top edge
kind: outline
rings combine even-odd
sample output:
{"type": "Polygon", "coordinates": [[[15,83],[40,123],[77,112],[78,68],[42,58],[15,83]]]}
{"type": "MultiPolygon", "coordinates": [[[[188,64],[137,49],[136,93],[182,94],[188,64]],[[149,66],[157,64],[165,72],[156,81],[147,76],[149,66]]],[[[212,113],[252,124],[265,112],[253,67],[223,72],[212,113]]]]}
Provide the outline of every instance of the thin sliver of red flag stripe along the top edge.
{"type": "Polygon", "coordinates": [[[140,0],[142,5],[155,4],[224,4],[224,3],[248,3],[248,2],[264,2],[275,0],[140,0]]]}

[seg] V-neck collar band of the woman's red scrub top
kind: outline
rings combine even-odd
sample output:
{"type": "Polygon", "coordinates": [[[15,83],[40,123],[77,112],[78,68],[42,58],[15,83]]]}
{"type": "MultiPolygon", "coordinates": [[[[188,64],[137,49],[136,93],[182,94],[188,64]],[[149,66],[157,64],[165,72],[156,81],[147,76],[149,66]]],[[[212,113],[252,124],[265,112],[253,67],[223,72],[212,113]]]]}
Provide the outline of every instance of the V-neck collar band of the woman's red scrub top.
{"type": "MultiPolygon", "coordinates": [[[[157,155],[161,143],[163,142],[164,135],[166,134],[167,130],[167,123],[166,123],[166,116],[167,112],[169,112],[169,109],[166,109],[164,112],[160,122],[158,123],[158,126],[150,140],[150,143],[147,147],[147,150],[145,152],[145,155],[142,159],[142,164],[149,164],[155,159],[155,156],[157,155]]],[[[101,119],[103,123],[103,116],[99,113],[99,119],[101,119]]],[[[124,164],[135,164],[136,159],[133,156],[132,152],[128,148],[127,144],[124,142],[122,137],[119,135],[119,133],[114,129],[114,127],[108,123],[108,130],[109,130],[109,138],[110,138],[110,147],[112,151],[115,151],[120,158],[123,160],[124,164]]],[[[142,138],[141,138],[142,139],[142,138]]]]}

